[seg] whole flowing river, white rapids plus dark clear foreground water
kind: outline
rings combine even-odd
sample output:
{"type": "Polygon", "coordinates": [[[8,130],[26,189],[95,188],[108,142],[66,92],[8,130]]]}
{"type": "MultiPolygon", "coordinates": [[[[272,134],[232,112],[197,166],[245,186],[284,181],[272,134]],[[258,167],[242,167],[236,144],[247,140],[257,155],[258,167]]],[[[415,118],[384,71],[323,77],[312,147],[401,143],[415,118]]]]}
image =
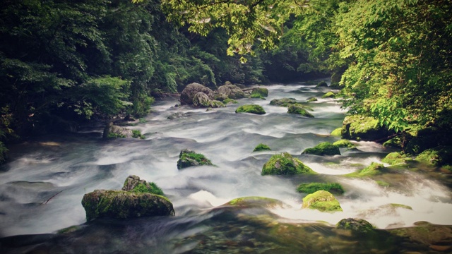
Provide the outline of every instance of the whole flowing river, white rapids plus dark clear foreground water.
{"type": "MultiPolygon", "coordinates": [[[[426,174],[399,169],[381,176],[389,183],[386,187],[372,179],[343,176],[380,162],[391,152],[379,144],[356,142],[356,149],[341,149],[342,155],[333,157],[301,155],[308,147],[338,140],[328,134],[342,125],[345,111],[335,99],[319,99],[309,104],[315,117],[304,118],[269,102],[283,97],[302,102],[320,98],[328,87],[303,83],[266,87],[266,100],[239,99],[239,104],[209,111],[174,107],[177,99],[162,99],[143,123],[129,127],[140,130],[145,140],[102,140],[99,126],[13,147],[13,160],[0,171],[0,237],[8,239],[4,242],[20,242],[8,251],[26,253],[45,246],[38,249],[48,253],[350,253],[355,246],[355,252],[366,253],[375,249],[372,241],[361,247],[355,240],[344,243],[331,233],[331,226],[348,217],[366,219],[379,229],[420,221],[452,225],[451,190],[426,174]],[[242,104],[260,104],[267,113],[234,113],[242,104]],[[252,152],[259,143],[272,150],[252,152]],[[184,148],[206,155],[215,167],[178,170],[184,148]],[[280,152],[289,152],[319,174],[261,176],[263,164],[280,152]],[[157,183],[172,201],[176,217],[84,224],[83,195],[95,189],[120,189],[132,174],[157,183]],[[296,187],[313,181],[343,185],[345,194],[336,197],[343,212],[301,209],[304,195],[296,187]],[[273,198],[284,205],[221,207],[246,196],[273,198]],[[388,205],[393,203],[412,209],[388,205]],[[79,224],[83,225],[68,236],[54,234],[79,224]],[[297,229],[290,230],[294,226],[297,229]],[[20,235],[27,240],[20,240],[20,235]]],[[[376,249],[392,251],[391,244],[397,245],[376,249]]]]}

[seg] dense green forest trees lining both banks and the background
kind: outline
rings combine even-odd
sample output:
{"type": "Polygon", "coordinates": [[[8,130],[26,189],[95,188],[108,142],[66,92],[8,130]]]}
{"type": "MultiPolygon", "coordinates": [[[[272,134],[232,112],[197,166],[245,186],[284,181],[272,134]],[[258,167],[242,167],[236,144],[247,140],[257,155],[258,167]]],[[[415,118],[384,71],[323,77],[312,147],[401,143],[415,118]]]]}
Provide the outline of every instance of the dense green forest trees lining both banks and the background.
{"type": "Polygon", "coordinates": [[[424,135],[410,152],[450,145],[451,13],[447,0],[6,0],[0,162],[9,143],[141,117],[192,82],[321,75],[403,148],[424,135]]]}

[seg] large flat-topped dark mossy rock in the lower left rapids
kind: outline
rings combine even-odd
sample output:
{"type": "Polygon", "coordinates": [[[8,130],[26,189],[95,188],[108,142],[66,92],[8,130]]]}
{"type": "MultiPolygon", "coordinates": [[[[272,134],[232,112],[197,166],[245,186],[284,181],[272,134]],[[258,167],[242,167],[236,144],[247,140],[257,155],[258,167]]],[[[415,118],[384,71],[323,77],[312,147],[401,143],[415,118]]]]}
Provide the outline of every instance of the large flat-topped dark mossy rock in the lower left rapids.
{"type": "Polygon", "coordinates": [[[103,217],[130,219],[174,216],[172,203],[161,195],[151,193],[95,190],[83,195],[82,205],[88,222],[103,217]]]}

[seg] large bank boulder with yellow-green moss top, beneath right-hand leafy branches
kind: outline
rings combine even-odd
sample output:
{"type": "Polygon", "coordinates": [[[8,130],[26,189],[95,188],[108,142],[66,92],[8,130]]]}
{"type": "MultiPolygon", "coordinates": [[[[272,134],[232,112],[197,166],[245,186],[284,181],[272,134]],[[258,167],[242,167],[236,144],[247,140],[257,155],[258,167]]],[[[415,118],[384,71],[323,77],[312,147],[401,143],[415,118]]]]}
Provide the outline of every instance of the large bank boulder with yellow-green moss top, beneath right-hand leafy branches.
{"type": "Polygon", "coordinates": [[[345,116],[340,135],[347,140],[374,141],[386,138],[391,133],[379,126],[379,121],[370,116],[345,116]]]}

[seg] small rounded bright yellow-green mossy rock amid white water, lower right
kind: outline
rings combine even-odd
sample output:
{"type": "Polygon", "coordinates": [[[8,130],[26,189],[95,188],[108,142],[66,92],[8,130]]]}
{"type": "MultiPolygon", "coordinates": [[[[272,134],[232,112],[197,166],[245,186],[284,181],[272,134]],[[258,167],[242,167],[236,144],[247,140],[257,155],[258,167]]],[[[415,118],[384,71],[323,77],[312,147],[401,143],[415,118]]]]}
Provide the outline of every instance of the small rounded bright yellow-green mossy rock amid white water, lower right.
{"type": "Polygon", "coordinates": [[[321,212],[342,212],[339,201],[328,191],[316,191],[303,198],[302,208],[316,209],[321,212]]]}

